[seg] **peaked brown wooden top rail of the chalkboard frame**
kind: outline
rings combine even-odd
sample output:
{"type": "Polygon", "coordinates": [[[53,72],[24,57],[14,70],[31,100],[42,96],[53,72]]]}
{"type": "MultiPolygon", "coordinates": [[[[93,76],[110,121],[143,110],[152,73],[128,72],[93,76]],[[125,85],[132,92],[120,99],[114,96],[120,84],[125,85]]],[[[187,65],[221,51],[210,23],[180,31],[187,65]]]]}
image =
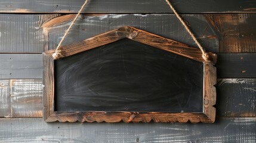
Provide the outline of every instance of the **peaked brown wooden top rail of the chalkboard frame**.
{"type": "MultiPolygon", "coordinates": [[[[111,30],[106,33],[102,33],[100,35],[96,35],[92,38],[85,39],[84,41],[78,41],[74,43],[70,43],[69,45],[61,46],[60,49],[60,58],[69,57],[70,55],[78,54],[79,52],[87,51],[92,48],[96,48],[98,46],[106,45],[107,43],[112,43],[118,41],[120,39],[132,39],[137,42],[144,43],[146,45],[154,46],[159,49],[163,49],[165,51],[173,52],[175,54],[204,62],[202,58],[202,52],[199,48],[190,47],[184,43],[180,43],[177,41],[172,41],[171,39],[163,38],[158,35],[154,35],[149,32],[145,32],[140,29],[136,29],[131,26],[124,26],[118,29],[111,30]]],[[[50,50],[44,52],[49,57],[54,60],[58,60],[58,58],[54,58],[52,55],[55,50],[50,50]]],[[[217,62],[217,54],[212,52],[208,52],[209,61],[212,63],[217,62]]]]}

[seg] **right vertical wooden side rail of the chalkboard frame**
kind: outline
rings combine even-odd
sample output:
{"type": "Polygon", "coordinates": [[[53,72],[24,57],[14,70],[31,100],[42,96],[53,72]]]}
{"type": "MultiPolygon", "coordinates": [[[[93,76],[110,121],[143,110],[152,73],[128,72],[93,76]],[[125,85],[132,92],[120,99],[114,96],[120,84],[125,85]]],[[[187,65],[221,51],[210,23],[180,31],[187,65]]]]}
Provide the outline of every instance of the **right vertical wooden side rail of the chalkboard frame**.
{"type": "Polygon", "coordinates": [[[215,122],[216,108],[216,88],[217,71],[211,62],[203,63],[203,113],[215,122]]]}

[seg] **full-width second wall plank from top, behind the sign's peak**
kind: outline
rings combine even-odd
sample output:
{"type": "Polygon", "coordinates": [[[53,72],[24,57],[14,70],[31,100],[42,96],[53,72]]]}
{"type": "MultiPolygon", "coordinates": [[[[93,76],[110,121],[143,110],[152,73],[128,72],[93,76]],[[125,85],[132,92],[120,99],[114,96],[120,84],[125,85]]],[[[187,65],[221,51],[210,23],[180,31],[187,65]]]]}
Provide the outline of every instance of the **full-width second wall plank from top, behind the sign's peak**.
{"type": "MultiPolygon", "coordinates": [[[[56,48],[75,15],[58,16],[60,14],[1,14],[0,52],[39,53],[56,48]],[[51,20],[53,18],[55,20],[51,20]]],[[[207,51],[256,52],[256,14],[181,16],[207,51]]],[[[127,25],[196,46],[173,14],[85,14],[79,17],[63,45],[127,25]]]]}

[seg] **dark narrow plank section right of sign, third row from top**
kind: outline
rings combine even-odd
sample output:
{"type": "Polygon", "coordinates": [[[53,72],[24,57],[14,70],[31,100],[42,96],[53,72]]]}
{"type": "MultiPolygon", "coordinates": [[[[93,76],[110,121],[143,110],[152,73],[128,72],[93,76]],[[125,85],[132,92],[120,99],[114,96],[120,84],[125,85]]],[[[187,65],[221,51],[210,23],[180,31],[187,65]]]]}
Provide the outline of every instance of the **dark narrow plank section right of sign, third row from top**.
{"type": "Polygon", "coordinates": [[[219,53],[218,78],[255,78],[256,53],[219,53]]]}

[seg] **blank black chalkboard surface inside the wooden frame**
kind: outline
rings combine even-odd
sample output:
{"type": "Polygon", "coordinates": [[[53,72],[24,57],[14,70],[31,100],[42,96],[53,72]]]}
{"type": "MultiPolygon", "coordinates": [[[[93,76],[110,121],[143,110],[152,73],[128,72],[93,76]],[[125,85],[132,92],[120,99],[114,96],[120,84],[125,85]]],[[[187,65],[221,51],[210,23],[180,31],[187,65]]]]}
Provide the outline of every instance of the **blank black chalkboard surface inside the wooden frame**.
{"type": "Polygon", "coordinates": [[[202,112],[203,63],[122,39],[54,61],[55,111],[202,112]]]}

